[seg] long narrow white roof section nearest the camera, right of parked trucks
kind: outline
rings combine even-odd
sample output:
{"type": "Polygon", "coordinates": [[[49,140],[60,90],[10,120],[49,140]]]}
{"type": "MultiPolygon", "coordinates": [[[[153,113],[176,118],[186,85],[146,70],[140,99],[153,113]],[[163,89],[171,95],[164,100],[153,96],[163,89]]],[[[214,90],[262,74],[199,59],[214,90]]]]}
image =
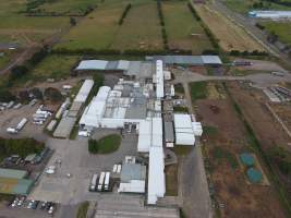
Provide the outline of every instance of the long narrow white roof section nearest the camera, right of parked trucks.
{"type": "Polygon", "coordinates": [[[158,197],[163,197],[165,195],[166,184],[163,168],[165,161],[162,147],[150,147],[147,204],[156,204],[158,197]]]}

